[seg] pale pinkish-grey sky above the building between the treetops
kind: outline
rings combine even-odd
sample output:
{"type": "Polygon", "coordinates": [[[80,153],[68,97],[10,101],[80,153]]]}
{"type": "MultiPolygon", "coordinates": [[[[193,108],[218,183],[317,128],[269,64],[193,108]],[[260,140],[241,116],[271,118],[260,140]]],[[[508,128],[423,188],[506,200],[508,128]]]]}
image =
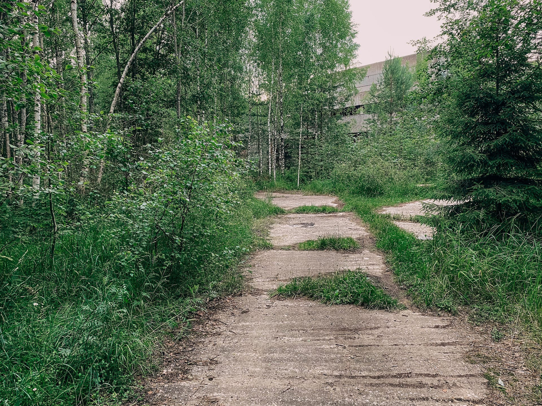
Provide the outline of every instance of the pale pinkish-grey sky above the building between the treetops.
{"type": "Polygon", "coordinates": [[[383,61],[390,50],[397,56],[414,54],[409,41],[440,32],[437,19],[423,15],[434,5],[430,0],[350,0],[360,45],[354,65],[383,61]]]}

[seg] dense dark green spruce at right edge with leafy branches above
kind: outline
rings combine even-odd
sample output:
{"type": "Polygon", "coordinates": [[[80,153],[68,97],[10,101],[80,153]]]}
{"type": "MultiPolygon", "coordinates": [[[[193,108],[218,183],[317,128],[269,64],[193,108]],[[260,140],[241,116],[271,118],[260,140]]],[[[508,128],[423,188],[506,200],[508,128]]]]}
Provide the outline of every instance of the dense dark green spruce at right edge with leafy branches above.
{"type": "Polygon", "coordinates": [[[433,83],[450,173],[440,197],[464,221],[542,208],[540,2],[440,0],[433,83]]]}

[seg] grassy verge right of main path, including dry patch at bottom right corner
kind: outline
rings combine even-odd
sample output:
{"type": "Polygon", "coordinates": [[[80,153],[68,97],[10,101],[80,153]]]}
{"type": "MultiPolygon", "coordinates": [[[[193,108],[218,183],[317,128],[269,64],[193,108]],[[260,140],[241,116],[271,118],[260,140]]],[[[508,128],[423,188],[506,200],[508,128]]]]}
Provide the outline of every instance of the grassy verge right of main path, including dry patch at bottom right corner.
{"type": "Polygon", "coordinates": [[[479,349],[483,351],[472,362],[486,369],[499,404],[542,404],[540,231],[525,233],[511,226],[497,236],[491,230],[467,232],[436,221],[431,223],[437,226],[434,240],[421,241],[389,217],[375,214],[375,209],[430,198],[427,188],[392,187],[377,197],[353,193],[354,188],[330,180],[313,181],[303,188],[336,194],[345,202],[343,211],[356,212],[369,225],[396,281],[408,289],[416,305],[453,313],[463,307],[469,309],[472,323],[498,323],[505,337],[492,331],[491,339],[499,336],[501,343],[479,349]],[[504,359],[515,369],[501,369],[504,359]],[[496,384],[499,378],[505,387],[496,384]]]}

